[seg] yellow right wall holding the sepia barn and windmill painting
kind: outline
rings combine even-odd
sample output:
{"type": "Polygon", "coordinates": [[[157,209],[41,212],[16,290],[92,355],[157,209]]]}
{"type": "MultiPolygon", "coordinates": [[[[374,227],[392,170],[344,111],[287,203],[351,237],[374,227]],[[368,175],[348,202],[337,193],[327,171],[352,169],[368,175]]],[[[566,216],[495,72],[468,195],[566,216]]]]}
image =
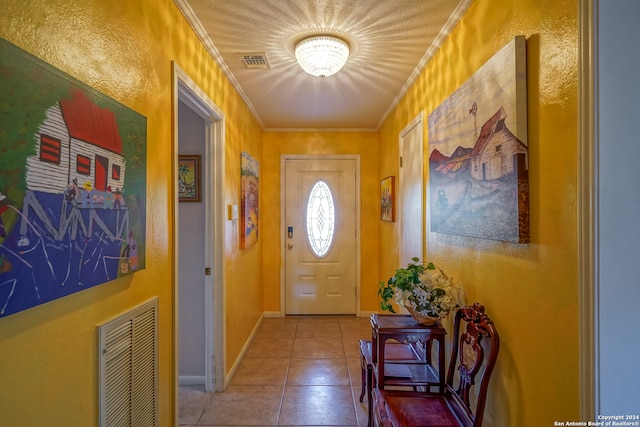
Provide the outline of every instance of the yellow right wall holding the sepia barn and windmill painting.
{"type": "MultiPolygon", "coordinates": [[[[579,420],[577,11],[575,0],[476,0],[380,129],[378,176],[397,175],[384,159],[397,158],[409,121],[526,36],[531,243],[430,232],[425,242],[424,256],[455,277],[468,303],[486,306],[502,338],[485,426],[579,420]]],[[[427,129],[425,120],[425,164],[427,129]]],[[[381,278],[398,262],[394,227],[380,225],[381,278]]]]}

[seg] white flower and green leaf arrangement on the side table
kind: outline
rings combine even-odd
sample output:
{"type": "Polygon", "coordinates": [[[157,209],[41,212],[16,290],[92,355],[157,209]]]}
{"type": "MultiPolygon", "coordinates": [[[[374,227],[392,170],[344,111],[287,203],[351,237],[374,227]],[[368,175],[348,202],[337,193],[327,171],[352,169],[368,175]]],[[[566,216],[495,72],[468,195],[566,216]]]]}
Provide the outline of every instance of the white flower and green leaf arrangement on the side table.
{"type": "Polygon", "coordinates": [[[451,310],[459,306],[460,288],[434,263],[420,263],[418,258],[411,260],[413,262],[406,268],[397,269],[386,284],[380,282],[380,308],[395,313],[391,304],[393,301],[407,308],[412,314],[415,312],[431,318],[446,317],[451,310]]]}

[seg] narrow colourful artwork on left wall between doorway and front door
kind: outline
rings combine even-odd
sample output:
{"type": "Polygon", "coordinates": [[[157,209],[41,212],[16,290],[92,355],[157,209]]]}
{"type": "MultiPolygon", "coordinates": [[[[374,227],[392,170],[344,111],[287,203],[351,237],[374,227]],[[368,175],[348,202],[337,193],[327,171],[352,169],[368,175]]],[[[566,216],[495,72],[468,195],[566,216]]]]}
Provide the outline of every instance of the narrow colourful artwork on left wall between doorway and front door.
{"type": "Polygon", "coordinates": [[[258,242],[258,202],[260,167],[258,161],[243,152],[240,164],[240,247],[258,242]]]}

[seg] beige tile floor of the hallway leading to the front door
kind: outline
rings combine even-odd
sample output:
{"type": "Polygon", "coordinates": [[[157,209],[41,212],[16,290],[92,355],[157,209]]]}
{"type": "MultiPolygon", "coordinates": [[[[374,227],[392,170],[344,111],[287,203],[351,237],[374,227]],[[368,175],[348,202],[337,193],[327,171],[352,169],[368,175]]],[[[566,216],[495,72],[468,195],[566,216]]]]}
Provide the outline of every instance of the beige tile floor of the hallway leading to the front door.
{"type": "Polygon", "coordinates": [[[367,317],[264,319],[224,393],[180,388],[180,426],[366,426],[360,338],[367,317]]]}

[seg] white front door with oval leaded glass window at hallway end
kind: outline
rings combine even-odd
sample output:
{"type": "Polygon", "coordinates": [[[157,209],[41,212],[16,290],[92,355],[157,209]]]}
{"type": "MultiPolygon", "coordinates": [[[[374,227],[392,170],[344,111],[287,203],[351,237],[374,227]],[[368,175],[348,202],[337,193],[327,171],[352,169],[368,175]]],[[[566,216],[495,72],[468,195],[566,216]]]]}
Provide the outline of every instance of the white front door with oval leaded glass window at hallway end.
{"type": "Polygon", "coordinates": [[[356,312],[356,160],[285,162],[285,313],[356,312]]]}

